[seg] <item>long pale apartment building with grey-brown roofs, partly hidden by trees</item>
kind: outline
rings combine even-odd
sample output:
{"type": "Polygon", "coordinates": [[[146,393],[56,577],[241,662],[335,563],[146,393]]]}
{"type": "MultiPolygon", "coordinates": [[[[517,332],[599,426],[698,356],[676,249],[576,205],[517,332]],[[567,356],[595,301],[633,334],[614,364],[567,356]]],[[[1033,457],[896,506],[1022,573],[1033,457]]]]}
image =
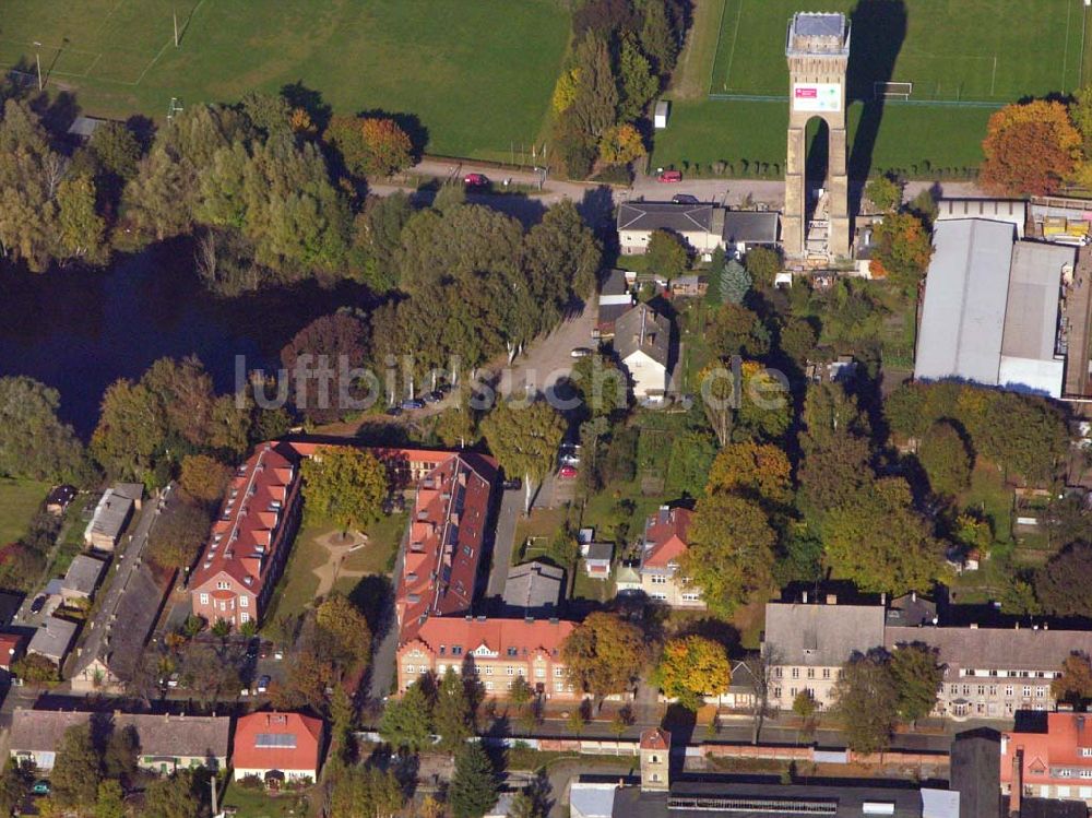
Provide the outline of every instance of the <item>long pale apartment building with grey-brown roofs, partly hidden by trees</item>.
{"type": "Polygon", "coordinates": [[[842,665],[854,653],[933,649],[943,668],[936,715],[1011,719],[1018,710],[1053,710],[1051,683],[1073,651],[1092,655],[1092,631],[892,625],[883,605],[769,603],[762,652],[770,665],[770,704],[788,709],[802,690],[821,708],[834,703],[842,665]]]}

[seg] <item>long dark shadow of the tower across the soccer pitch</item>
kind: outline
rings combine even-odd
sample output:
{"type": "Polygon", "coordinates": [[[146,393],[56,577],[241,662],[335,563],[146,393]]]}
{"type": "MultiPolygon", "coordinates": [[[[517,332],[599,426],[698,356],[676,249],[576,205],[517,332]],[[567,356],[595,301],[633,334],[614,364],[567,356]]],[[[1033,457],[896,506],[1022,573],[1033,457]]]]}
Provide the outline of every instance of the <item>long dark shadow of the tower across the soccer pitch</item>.
{"type": "MultiPolygon", "coordinates": [[[[883,96],[876,96],[875,84],[893,80],[895,59],[906,39],[905,0],[859,0],[850,12],[850,23],[853,33],[846,105],[860,102],[863,107],[850,152],[848,170],[850,178],[866,179],[871,171],[873,151],[883,117],[883,96]]],[[[855,213],[860,205],[860,187],[851,186],[851,190],[856,201],[850,202],[850,212],[855,213]]]]}

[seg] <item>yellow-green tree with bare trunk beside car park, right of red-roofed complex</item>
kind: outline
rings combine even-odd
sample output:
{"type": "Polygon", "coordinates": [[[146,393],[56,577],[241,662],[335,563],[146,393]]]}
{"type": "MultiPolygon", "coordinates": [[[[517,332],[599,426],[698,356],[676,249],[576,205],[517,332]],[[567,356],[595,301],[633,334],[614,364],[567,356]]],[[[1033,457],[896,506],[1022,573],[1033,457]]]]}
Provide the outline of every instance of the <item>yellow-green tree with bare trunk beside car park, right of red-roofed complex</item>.
{"type": "Polygon", "coordinates": [[[524,408],[500,401],[482,418],[482,434],[506,474],[527,481],[530,502],[531,481],[541,482],[554,467],[565,420],[545,401],[532,401],[524,408]]]}

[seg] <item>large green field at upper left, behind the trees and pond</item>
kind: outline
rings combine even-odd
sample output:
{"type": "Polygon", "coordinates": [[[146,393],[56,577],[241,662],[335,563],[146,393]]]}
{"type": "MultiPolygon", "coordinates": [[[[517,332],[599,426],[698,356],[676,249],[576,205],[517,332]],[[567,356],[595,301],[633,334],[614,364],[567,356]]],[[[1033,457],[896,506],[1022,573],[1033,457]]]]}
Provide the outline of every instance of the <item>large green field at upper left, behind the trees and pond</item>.
{"type": "Polygon", "coordinates": [[[4,0],[0,63],[33,76],[37,51],[50,91],[110,117],[299,83],[416,116],[431,153],[501,158],[539,137],[568,36],[555,0],[4,0]]]}

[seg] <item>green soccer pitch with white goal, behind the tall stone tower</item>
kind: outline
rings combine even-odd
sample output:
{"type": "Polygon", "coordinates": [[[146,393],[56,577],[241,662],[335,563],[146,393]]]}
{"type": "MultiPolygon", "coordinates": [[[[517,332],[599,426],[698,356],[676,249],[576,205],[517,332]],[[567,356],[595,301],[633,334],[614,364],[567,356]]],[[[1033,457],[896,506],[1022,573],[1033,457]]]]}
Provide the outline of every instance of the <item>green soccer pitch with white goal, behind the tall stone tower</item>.
{"type": "MultiPolygon", "coordinates": [[[[853,22],[851,94],[913,83],[911,99],[1010,102],[1081,83],[1083,0],[826,0],[853,22]]],[[[799,0],[725,0],[713,94],[785,95],[785,31],[799,0]]]]}

